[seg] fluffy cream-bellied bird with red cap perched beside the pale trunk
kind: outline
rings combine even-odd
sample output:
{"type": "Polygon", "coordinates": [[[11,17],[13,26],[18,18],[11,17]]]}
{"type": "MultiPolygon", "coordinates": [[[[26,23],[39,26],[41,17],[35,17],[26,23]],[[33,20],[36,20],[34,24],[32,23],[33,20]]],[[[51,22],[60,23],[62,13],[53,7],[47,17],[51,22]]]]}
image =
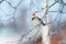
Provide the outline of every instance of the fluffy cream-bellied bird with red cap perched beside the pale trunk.
{"type": "Polygon", "coordinates": [[[45,25],[45,23],[38,16],[36,16],[35,13],[32,14],[32,24],[34,26],[37,26],[38,24],[45,25]]]}

